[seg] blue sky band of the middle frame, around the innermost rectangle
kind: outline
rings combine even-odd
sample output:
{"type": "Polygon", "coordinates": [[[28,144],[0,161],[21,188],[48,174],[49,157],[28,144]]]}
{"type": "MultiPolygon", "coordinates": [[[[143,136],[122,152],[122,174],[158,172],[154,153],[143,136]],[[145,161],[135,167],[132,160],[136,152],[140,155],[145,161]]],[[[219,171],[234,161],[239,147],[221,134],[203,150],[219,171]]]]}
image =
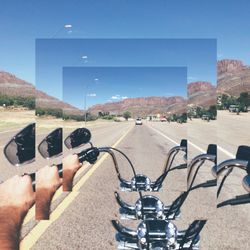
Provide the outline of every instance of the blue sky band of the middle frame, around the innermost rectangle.
{"type": "Polygon", "coordinates": [[[63,66],[184,66],[188,82],[215,84],[216,40],[37,39],[36,87],[62,99],[63,66]]]}

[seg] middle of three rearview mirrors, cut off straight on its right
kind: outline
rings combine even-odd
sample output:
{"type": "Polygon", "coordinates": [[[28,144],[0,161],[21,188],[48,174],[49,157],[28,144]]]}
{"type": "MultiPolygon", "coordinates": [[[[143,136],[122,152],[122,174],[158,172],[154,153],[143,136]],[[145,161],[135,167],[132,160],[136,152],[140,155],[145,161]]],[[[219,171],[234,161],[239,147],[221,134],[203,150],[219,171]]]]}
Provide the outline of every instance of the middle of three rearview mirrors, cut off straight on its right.
{"type": "Polygon", "coordinates": [[[62,154],[62,128],[53,130],[38,146],[43,158],[49,159],[62,154]]]}

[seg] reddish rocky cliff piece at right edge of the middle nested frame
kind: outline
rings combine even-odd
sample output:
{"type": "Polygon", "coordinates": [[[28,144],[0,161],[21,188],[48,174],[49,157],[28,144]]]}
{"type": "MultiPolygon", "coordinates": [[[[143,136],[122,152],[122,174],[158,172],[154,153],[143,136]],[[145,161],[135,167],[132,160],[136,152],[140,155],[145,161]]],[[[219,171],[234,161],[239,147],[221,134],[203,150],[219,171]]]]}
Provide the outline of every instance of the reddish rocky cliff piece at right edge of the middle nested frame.
{"type": "Polygon", "coordinates": [[[188,84],[188,104],[209,107],[216,104],[216,87],[209,82],[188,84]]]}

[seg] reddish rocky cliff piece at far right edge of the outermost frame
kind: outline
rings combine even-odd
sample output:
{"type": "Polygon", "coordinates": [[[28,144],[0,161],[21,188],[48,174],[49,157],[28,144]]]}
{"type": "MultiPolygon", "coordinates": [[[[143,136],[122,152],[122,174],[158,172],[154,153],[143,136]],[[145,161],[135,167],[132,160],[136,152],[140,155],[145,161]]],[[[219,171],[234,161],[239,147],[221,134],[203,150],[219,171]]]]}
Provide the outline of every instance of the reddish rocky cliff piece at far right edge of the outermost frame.
{"type": "Polygon", "coordinates": [[[217,64],[217,92],[239,96],[250,91],[250,67],[239,60],[221,60],[217,64]]]}

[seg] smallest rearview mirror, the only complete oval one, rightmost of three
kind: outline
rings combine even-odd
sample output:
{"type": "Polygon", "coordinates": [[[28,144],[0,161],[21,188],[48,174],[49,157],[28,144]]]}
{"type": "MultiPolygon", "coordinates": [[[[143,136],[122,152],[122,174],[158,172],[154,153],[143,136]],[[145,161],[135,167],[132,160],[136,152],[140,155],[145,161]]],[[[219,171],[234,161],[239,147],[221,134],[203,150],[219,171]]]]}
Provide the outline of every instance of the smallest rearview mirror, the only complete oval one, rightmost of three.
{"type": "Polygon", "coordinates": [[[72,149],[89,143],[90,139],[91,133],[88,129],[78,128],[65,139],[64,144],[68,149],[72,149]]]}

